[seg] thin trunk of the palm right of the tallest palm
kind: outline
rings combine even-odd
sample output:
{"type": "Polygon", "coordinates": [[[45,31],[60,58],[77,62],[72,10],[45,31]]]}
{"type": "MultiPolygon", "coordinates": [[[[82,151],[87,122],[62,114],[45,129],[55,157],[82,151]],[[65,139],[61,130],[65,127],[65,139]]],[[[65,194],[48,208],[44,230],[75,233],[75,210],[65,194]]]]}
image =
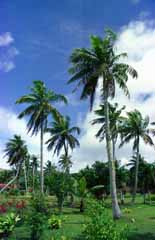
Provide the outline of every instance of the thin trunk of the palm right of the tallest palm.
{"type": "Polygon", "coordinates": [[[137,159],[136,159],[136,167],[135,167],[135,183],[133,189],[132,203],[135,203],[137,187],[138,187],[138,171],[139,171],[139,137],[137,137],[137,159]]]}

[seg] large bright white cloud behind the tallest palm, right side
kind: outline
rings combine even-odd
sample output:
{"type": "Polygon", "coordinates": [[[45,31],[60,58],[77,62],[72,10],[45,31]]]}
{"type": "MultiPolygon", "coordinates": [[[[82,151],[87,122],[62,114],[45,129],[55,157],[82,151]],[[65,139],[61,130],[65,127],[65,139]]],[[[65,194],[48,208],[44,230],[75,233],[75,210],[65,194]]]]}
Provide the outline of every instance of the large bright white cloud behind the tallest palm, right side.
{"type": "MultiPolygon", "coordinates": [[[[132,65],[139,74],[137,80],[129,79],[128,87],[131,94],[130,100],[126,98],[120,90],[117,91],[115,101],[126,105],[126,111],[139,109],[142,114],[149,115],[151,121],[155,120],[155,21],[135,21],[121,28],[116,44],[118,52],[127,52],[126,61],[132,65]]],[[[95,103],[95,108],[98,102],[95,103]]],[[[99,143],[94,135],[96,127],[91,126],[90,120],[94,118],[94,113],[88,112],[83,119],[81,127],[84,134],[80,138],[81,148],[73,154],[75,164],[73,171],[92,164],[96,160],[105,161],[105,143],[99,143]]],[[[154,161],[154,149],[141,142],[141,154],[148,161],[154,161]]],[[[117,159],[126,163],[132,155],[132,143],[117,149],[117,159]]]]}

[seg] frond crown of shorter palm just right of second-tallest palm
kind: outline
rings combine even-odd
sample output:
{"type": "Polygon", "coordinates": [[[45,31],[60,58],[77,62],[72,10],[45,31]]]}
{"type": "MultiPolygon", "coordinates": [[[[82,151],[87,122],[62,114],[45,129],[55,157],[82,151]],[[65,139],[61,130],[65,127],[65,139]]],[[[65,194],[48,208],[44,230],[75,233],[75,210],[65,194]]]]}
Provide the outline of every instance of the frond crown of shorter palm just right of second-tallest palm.
{"type": "Polygon", "coordinates": [[[51,123],[51,128],[47,128],[47,132],[51,135],[47,144],[49,151],[54,150],[54,154],[59,155],[63,149],[65,155],[68,156],[68,151],[79,146],[79,141],[74,136],[74,133],[80,134],[78,127],[71,127],[70,118],[63,117],[58,114],[53,114],[54,121],[51,123]]]}

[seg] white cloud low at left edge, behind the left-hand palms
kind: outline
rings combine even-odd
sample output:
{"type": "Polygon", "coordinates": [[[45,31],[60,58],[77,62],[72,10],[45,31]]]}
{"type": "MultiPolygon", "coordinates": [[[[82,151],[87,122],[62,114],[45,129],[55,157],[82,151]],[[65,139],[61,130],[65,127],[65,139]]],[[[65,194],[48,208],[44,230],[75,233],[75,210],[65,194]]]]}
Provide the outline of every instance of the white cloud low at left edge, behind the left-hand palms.
{"type": "MultiPolygon", "coordinates": [[[[24,139],[28,145],[29,152],[31,154],[39,155],[40,153],[40,137],[31,136],[27,134],[26,120],[18,119],[17,114],[10,109],[0,107],[0,168],[8,168],[7,159],[3,158],[5,143],[9,138],[12,138],[14,134],[18,134],[24,139]]],[[[48,135],[45,136],[45,141],[48,135]]],[[[52,153],[49,153],[46,148],[44,149],[44,160],[52,160],[52,153]]]]}

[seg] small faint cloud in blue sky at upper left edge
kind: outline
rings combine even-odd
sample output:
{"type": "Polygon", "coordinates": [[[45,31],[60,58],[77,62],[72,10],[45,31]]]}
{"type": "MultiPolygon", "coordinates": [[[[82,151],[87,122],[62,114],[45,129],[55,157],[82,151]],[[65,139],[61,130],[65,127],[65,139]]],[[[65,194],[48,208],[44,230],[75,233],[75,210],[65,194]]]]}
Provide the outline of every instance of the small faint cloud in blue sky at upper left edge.
{"type": "Polygon", "coordinates": [[[12,46],[14,38],[9,32],[0,35],[0,71],[10,72],[15,68],[15,57],[19,54],[12,46]]]}

